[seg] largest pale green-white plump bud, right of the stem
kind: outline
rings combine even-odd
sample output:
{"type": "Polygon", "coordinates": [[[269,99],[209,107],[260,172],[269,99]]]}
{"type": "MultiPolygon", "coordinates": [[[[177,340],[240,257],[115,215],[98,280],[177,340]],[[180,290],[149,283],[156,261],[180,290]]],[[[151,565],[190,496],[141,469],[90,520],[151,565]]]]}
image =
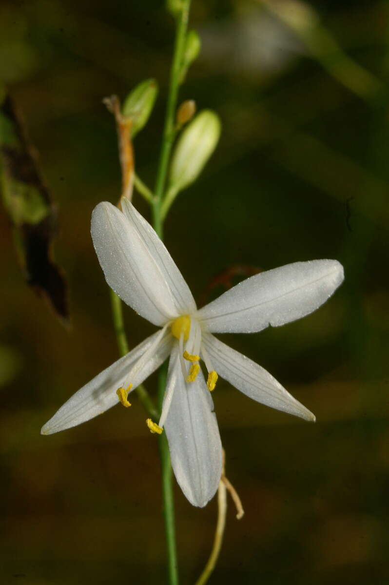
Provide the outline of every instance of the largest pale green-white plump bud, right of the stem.
{"type": "Polygon", "coordinates": [[[180,191],[193,183],[211,154],[221,132],[218,116],[203,110],[190,122],[175,146],[170,167],[170,188],[180,191]]]}

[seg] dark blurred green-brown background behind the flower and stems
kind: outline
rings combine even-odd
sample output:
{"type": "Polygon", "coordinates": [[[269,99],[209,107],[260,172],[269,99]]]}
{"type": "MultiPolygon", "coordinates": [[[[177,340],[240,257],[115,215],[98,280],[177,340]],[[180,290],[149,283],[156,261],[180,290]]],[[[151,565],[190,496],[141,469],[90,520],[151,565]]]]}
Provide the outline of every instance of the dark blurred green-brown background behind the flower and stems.
{"type": "MultiPolygon", "coordinates": [[[[237,521],[229,502],[215,584],[389,577],[387,5],[311,8],[323,28],[297,11],[297,34],[256,0],[192,2],[202,52],[180,97],[215,109],[223,124],[201,179],[166,222],[167,247],[195,298],[222,292],[210,284],[225,270],[236,271],[236,282],[252,267],[335,258],[346,274],[331,301],[302,321],[224,336],[317,422],[267,409],[219,381],[226,473],[246,514],[237,521]]],[[[102,98],[124,98],[157,78],[159,100],[135,140],[137,172],[152,185],[173,32],[157,0],[0,3],[0,78],[58,208],[56,261],[71,312],[67,330],[27,287],[2,214],[1,583],[164,582],[157,441],[139,402],[58,435],[39,431],[118,357],[89,234],[94,206],[116,202],[121,189],[102,98]]],[[[143,199],[134,202],[149,219],[143,199]]],[[[130,346],[153,331],[129,308],[125,318],[130,346]]],[[[146,385],[154,393],[155,378],[146,385]]],[[[211,549],[216,500],[199,510],[177,486],[175,496],[181,580],[194,583],[211,549]]]]}

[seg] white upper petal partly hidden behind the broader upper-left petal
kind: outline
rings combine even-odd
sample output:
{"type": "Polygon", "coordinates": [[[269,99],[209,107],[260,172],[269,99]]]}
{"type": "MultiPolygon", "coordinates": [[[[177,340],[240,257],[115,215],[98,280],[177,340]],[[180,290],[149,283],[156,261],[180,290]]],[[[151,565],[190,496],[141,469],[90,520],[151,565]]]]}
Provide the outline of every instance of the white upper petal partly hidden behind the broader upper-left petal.
{"type": "Polygon", "coordinates": [[[190,315],[196,310],[194,298],[192,297],[190,288],[185,283],[183,275],[168,253],[166,246],[159,236],[157,236],[150,223],[144,219],[143,215],[140,215],[128,199],[122,199],[122,208],[123,213],[135,227],[140,238],[143,239],[144,245],[149,249],[150,254],[152,254],[158,264],[173,295],[175,308],[178,313],[180,315],[190,315]]]}

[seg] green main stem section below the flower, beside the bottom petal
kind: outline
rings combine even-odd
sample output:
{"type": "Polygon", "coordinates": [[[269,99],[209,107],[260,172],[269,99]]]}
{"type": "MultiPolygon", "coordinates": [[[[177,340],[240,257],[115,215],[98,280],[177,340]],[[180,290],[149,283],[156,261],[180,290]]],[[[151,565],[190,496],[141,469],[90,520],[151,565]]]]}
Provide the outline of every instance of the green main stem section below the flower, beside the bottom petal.
{"type": "MultiPolygon", "coordinates": [[[[167,364],[165,363],[159,372],[158,379],[158,405],[162,409],[163,397],[166,386],[167,364]]],[[[173,475],[171,473],[170,453],[166,433],[158,437],[161,458],[162,494],[163,494],[163,515],[165,521],[165,536],[167,546],[167,574],[170,585],[178,585],[177,550],[175,546],[174,528],[174,498],[173,498],[173,475]]]]}

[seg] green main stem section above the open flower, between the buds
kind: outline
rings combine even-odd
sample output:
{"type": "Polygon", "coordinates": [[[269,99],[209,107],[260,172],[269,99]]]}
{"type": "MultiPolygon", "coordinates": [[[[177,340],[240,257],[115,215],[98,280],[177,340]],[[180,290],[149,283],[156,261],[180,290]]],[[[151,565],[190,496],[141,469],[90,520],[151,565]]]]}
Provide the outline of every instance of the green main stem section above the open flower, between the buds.
{"type": "Polygon", "coordinates": [[[177,107],[178,87],[180,86],[181,68],[185,49],[185,37],[188,27],[190,0],[183,0],[183,8],[177,15],[175,28],[175,44],[173,63],[170,71],[170,87],[167,98],[165,126],[162,137],[161,154],[157,170],[155,197],[153,200],[154,229],[161,237],[163,232],[163,220],[160,214],[161,201],[166,183],[167,166],[170,158],[171,147],[175,135],[175,109],[177,107]]]}

